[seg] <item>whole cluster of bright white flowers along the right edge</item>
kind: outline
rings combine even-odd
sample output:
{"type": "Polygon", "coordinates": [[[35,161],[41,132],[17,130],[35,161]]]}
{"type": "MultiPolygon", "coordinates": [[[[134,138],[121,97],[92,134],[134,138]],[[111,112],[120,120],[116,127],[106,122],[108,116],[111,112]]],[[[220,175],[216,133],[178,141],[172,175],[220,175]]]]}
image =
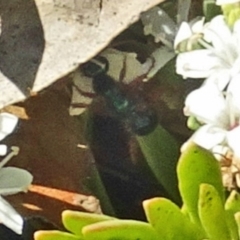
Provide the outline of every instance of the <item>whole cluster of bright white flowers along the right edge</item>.
{"type": "Polygon", "coordinates": [[[202,34],[199,40],[202,49],[177,57],[178,74],[205,79],[185,101],[184,114],[195,117],[202,125],[190,141],[213,153],[227,148],[240,165],[240,21],[235,22],[233,29],[223,15],[206,24],[201,20],[191,27],[183,23],[175,46],[196,33],[202,34]]]}

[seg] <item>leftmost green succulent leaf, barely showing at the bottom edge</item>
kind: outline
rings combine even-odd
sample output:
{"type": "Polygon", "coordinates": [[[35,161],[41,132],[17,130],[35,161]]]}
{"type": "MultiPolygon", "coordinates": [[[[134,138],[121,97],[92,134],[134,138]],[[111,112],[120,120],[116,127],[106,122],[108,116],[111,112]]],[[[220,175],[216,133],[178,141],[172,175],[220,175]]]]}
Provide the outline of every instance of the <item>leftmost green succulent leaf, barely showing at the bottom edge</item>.
{"type": "Polygon", "coordinates": [[[83,240],[83,238],[58,230],[40,230],[34,233],[34,240],[83,240]]]}

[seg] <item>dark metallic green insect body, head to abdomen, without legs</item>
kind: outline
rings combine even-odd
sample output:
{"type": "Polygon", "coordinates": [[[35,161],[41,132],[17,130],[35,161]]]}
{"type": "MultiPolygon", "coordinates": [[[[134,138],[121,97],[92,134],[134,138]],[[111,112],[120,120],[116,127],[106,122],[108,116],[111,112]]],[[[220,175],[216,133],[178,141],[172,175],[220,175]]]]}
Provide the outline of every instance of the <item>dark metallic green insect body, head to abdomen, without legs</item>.
{"type": "Polygon", "coordinates": [[[107,59],[98,57],[84,64],[82,71],[86,76],[92,77],[95,93],[105,99],[110,112],[126,122],[135,134],[147,135],[155,129],[158,122],[155,111],[139,96],[127,95],[119,84],[107,75],[107,59]]]}

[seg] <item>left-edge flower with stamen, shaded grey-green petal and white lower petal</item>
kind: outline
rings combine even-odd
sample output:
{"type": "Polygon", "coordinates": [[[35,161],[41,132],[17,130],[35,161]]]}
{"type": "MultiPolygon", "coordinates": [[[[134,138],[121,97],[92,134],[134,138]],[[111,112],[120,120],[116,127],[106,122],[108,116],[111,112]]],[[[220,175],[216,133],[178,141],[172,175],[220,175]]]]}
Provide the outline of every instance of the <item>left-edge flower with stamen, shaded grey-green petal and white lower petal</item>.
{"type": "MultiPolygon", "coordinates": [[[[32,183],[33,176],[28,171],[16,167],[3,167],[13,156],[18,154],[18,151],[18,147],[12,147],[12,152],[0,162],[0,195],[25,192],[32,183]]],[[[22,233],[22,217],[1,196],[0,222],[17,234],[22,233]]]]}

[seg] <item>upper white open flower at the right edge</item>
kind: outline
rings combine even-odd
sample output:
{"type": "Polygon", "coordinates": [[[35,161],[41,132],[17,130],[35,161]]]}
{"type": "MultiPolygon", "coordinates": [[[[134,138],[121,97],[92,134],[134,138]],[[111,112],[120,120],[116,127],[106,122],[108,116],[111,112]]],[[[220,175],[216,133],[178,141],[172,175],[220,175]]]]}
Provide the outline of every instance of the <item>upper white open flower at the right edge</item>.
{"type": "Polygon", "coordinates": [[[240,21],[231,31],[219,15],[203,27],[205,49],[180,53],[177,73],[184,78],[206,78],[223,90],[233,78],[240,77],[240,21]]]}

